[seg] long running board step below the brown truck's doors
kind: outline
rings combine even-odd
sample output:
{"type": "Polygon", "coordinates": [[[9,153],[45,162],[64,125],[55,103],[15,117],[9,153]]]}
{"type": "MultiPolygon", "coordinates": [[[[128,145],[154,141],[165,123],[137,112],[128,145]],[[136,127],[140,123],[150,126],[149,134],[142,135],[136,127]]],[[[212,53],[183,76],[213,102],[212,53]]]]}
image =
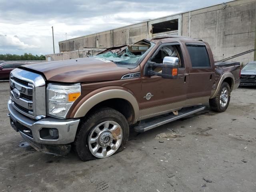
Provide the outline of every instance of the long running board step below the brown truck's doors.
{"type": "Polygon", "coordinates": [[[168,116],[158,116],[158,117],[142,120],[139,125],[134,127],[134,130],[136,132],[145,132],[147,130],[150,130],[155,127],[161,126],[163,124],[186,117],[188,115],[194,114],[204,109],[205,109],[205,106],[193,106],[193,107],[182,108],[181,110],[178,111],[177,116],[171,113],[168,116]]]}

